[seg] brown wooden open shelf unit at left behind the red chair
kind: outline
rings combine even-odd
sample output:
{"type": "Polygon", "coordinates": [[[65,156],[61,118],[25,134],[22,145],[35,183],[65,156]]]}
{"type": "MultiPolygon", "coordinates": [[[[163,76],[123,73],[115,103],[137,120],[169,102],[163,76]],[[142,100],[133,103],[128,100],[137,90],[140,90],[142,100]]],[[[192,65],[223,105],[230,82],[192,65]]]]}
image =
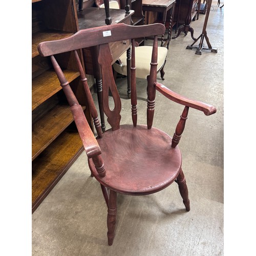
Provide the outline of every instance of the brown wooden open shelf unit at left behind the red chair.
{"type": "MultiPolygon", "coordinates": [[[[39,55],[37,45],[77,31],[75,0],[32,0],[32,212],[83,151],[51,61],[39,55]]],[[[82,56],[82,51],[78,54],[82,56]]],[[[56,59],[92,127],[74,55],[58,54],[56,59]]]]}

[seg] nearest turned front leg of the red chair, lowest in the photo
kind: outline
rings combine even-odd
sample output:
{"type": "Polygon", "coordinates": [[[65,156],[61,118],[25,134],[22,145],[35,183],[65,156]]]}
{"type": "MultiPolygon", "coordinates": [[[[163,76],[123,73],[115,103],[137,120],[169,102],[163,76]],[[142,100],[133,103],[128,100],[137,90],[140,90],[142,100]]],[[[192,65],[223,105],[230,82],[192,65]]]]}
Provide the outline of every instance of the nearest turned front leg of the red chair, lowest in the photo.
{"type": "Polygon", "coordinates": [[[116,192],[113,190],[110,190],[108,219],[107,219],[109,245],[113,244],[113,240],[115,237],[116,213],[117,213],[117,200],[116,199],[117,199],[116,192]]]}

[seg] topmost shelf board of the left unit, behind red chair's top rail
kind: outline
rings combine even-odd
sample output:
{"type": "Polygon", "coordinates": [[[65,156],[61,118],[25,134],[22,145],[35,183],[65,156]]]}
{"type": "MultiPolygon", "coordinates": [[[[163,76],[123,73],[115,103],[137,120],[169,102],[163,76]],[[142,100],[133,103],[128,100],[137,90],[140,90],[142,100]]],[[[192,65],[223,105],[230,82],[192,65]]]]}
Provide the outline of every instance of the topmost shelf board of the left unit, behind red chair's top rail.
{"type": "Polygon", "coordinates": [[[58,40],[71,36],[73,34],[74,33],[57,30],[40,31],[32,34],[32,58],[39,55],[39,52],[37,51],[37,46],[39,42],[58,40]]]}

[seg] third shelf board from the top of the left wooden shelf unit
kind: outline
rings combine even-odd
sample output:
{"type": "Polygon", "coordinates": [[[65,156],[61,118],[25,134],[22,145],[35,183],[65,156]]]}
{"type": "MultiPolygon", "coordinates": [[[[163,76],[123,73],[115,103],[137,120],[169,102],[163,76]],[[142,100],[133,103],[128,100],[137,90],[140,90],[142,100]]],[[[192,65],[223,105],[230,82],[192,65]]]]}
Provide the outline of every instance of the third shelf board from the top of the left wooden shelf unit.
{"type": "MultiPolygon", "coordinates": [[[[83,110],[86,107],[83,106],[83,110]]],[[[32,127],[32,161],[74,121],[69,105],[57,105],[32,127]]]]}

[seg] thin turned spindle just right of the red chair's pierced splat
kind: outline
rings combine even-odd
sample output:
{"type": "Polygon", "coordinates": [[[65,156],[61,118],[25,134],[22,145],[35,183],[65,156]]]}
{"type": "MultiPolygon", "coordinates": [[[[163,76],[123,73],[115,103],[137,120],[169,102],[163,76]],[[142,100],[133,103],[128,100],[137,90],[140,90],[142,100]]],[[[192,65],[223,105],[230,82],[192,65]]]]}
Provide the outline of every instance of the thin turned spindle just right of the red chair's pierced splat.
{"type": "Polygon", "coordinates": [[[135,39],[132,39],[132,64],[131,64],[131,103],[133,125],[137,125],[137,92],[136,92],[136,67],[135,67],[135,39]]]}

